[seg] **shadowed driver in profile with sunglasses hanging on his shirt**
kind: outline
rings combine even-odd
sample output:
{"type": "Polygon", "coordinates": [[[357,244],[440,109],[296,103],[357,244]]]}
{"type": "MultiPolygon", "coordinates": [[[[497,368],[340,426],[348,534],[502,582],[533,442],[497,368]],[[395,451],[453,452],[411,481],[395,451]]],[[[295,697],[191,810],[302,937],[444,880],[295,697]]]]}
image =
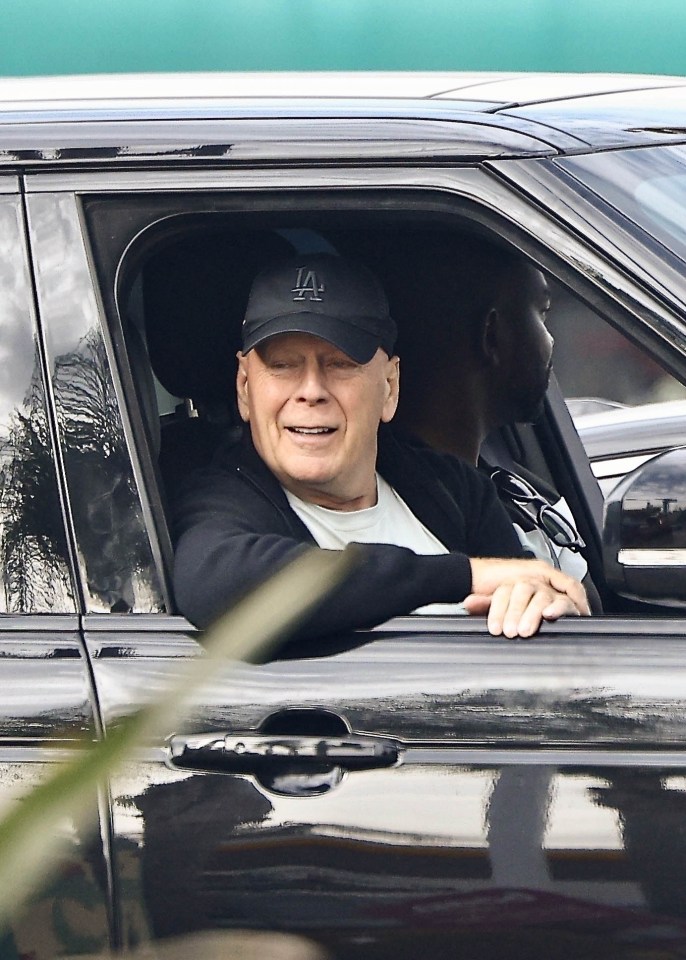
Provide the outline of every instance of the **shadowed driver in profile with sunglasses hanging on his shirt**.
{"type": "MultiPolygon", "coordinates": [[[[507,424],[533,423],[543,412],[553,352],[547,281],[517,254],[477,238],[426,232],[415,238],[412,273],[409,263],[402,268],[402,249],[398,244],[393,306],[407,317],[405,347],[415,362],[404,378],[407,403],[399,419],[415,436],[490,474],[487,438],[507,424]],[[426,281],[421,292],[411,282],[415,271],[426,281]],[[422,325],[422,316],[443,322],[422,325]],[[429,363],[434,374],[426,378],[429,363]]],[[[514,476],[498,470],[495,480],[524,548],[583,580],[599,611],[564,501],[519,466],[514,476]],[[556,501],[554,509],[541,490],[556,501]]]]}

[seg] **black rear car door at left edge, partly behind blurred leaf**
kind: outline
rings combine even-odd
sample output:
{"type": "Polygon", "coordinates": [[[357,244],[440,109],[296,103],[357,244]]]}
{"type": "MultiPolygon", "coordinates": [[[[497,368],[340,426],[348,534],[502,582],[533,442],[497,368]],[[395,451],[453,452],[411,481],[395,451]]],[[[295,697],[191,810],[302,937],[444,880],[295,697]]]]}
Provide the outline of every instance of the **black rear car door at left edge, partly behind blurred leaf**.
{"type": "MultiPolygon", "coordinates": [[[[79,630],[78,589],[60,497],[43,342],[34,311],[18,180],[0,177],[0,806],[55,770],[99,722],[79,630]]],[[[110,940],[104,796],[95,832],[65,822],[71,840],[54,873],[17,912],[3,956],[100,951],[110,940]]],[[[17,878],[19,880],[19,878],[17,878]]]]}

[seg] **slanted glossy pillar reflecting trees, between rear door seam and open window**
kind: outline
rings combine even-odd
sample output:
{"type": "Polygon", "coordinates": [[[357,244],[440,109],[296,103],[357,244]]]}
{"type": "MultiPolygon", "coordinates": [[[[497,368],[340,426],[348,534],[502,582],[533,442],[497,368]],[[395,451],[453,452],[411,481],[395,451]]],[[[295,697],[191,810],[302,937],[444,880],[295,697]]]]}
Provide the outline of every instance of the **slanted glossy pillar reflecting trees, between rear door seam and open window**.
{"type": "Polygon", "coordinates": [[[32,196],[28,214],[85,609],[122,614],[168,609],[75,198],[32,196]]]}

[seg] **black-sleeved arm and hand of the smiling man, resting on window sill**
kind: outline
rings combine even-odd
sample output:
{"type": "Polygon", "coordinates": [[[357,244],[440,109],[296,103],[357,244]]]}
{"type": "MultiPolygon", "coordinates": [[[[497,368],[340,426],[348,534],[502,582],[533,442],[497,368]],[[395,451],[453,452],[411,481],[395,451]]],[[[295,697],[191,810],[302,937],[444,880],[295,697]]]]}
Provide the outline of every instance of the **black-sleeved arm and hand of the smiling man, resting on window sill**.
{"type": "MultiPolygon", "coordinates": [[[[290,508],[279,509],[235,473],[205,475],[178,517],[174,588],[179,610],[192,623],[206,627],[247,590],[312,545],[305,528],[289,514],[290,508]],[[300,538],[297,529],[302,529],[300,538]]],[[[578,589],[583,595],[580,584],[538,561],[470,563],[457,551],[418,556],[388,544],[356,544],[355,549],[359,556],[355,569],[308,616],[298,629],[299,637],[375,626],[425,604],[460,602],[468,595],[469,612],[490,611],[489,630],[506,636],[530,636],[542,619],[586,612],[577,593],[578,589]],[[511,597],[506,601],[508,588],[511,597]],[[522,607],[527,590],[530,596],[522,607]]]]}

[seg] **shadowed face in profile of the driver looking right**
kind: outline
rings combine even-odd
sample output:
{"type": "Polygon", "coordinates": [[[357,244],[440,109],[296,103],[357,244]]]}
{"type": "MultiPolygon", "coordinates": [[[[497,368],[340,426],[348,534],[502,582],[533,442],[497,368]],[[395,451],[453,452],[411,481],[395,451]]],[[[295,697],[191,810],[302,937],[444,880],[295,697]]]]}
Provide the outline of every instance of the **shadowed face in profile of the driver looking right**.
{"type": "Polygon", "coordinates": [[[509,331],[502,395],[509,422],[531,423],[543,412],[552,370],[553,338],[546,328],[550,290],[541,271],[526,266],[507,278],[502,297],[509,331]]]}

